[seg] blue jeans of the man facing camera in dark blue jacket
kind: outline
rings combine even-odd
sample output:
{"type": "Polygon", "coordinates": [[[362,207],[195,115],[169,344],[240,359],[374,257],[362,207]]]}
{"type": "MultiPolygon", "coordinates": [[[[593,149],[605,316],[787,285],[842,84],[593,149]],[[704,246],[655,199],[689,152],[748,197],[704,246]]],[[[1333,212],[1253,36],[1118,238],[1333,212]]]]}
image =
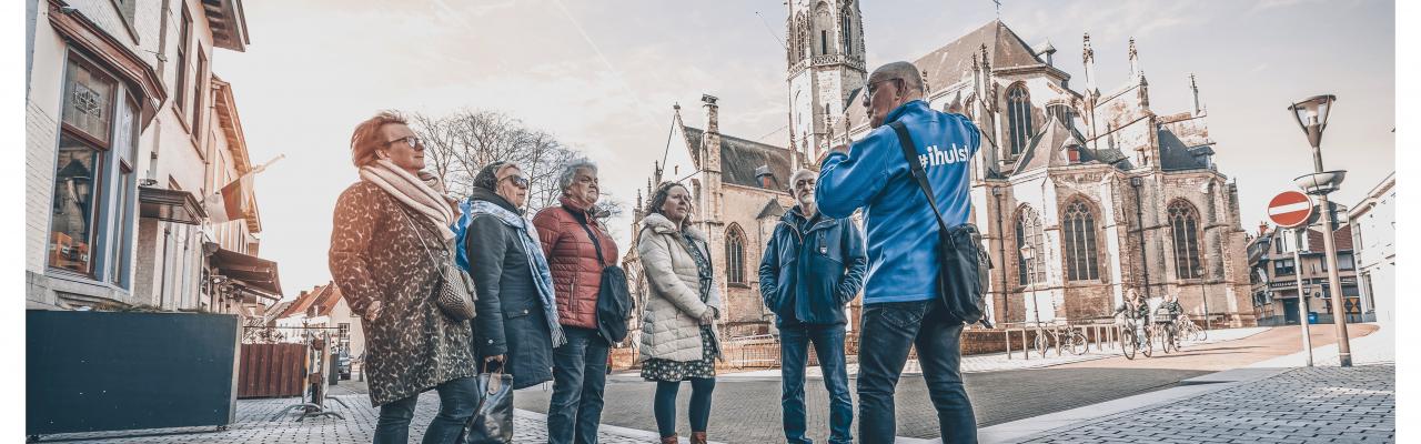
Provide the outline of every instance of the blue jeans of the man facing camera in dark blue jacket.
{"type": "Polygon", "coordinates": [[[844,324],[780,327],[784,440],[791,444],[813,443],[804,437],[804,364],[810,343],[814,343],[814,354],[824,371],[824,388],[828,390],[828,441],[853,443],[850,427],[854,424],[854,401],[848,396],[848,370],[844,363],[844,324]]]}

